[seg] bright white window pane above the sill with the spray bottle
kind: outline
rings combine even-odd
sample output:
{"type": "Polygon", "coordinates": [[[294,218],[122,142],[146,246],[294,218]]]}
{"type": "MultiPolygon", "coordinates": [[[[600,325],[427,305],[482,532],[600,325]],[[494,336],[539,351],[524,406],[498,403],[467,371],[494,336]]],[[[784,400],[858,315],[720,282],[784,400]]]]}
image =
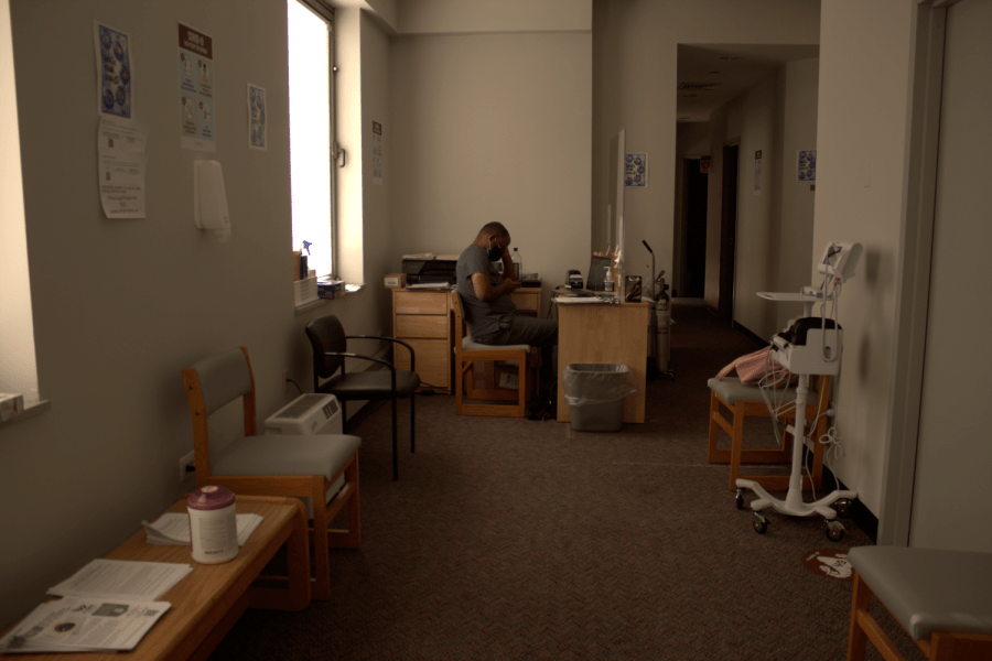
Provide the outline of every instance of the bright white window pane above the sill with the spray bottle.
{"type": "Polygon", "coordinates": [[[287,1],[293,250],[309,247],[317,275],[335,267],[332,17],[319,0],[287,1]]]}

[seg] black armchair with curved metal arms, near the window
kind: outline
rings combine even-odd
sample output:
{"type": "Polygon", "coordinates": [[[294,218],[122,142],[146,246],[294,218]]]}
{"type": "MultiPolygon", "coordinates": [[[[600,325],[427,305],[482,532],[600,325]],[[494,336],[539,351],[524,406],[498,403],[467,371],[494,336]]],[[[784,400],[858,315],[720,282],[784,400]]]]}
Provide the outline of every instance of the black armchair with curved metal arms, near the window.
{"type": "Polygon", "coordinates": [[[396,400],[410,398],[410,452],[414,451],[413,393],[420,387],[416,369],[413,347],[395,337],[378,335],[345,335],[337,317],[328,315],[306,324],[306,337],[313,347],[313,391],[333,394],[341,402],[342,415],[347,420],[348,400],[392,400],[392,479],[399,479],[399,462],[396,451],[396,400]],[[410,351],[410,371],[398,370],[393,362],[360,354],[348,353],[348,339],[380,339],[401,344],[410,351]],[[358,358],[385,365],[389,371],[345,371],[345,358],[358,358]],[[338,373],[338,370],[341,372],[338,373]],[[322,379],[327,379],[321,383],[322,379]]]}

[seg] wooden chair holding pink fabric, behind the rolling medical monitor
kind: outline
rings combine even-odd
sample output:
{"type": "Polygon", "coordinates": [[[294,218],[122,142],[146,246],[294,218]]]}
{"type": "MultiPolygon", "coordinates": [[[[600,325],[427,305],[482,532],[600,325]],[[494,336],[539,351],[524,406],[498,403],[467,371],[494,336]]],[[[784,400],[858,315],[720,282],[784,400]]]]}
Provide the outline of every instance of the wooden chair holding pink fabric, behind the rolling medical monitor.
{"type": "MultiPolygon", "coordinates": [[[[741,383],[740,379],[724,377],[723,379],[710,379],[710,436],[707,449],[707,462],[710,464],[730,464],[730,489],[737,489],[737,478],[757,481],[766,491],[784,491],[789,488],[788,475],[741,475],[741,464],[790,464],[792,462],[792,437],[790,434],[783,436],[783,446],[777,449],[744,449],[744,419],[770,418],[768,405],[762,398],[758,386],[741,383]],[[721,407],[730,411],[731,420],[722,415],[721,407]],[[731,437],[731,447],[718,446],[719,432],[722,429],[731,437]]],[[[819,440],[828,427],[828,416],[822,415],[830,408],[830,377],[821,376],[816,390],[810,388],[807,395],[811,403],[806,405],[806,420],[816,420],[813,438],[819,440]],[[819,416],[819,418],[818,418],[819,416]]],[[[786,388],[785,391],[775,391],[777,401],[789,402],[796,400],[796,389],[786,388]]],[[[780,418],[787,422],[795,420],[795,408],[786,409],[780,418]],[[791,411],[791,414],[790,414],[791,411]]],[[[812,485],[809,477],[802,476],[802,489],[820,488],[823,477],[823,444],[815,443],[812,448],[813,462],[810,469],[812,485]]]]}

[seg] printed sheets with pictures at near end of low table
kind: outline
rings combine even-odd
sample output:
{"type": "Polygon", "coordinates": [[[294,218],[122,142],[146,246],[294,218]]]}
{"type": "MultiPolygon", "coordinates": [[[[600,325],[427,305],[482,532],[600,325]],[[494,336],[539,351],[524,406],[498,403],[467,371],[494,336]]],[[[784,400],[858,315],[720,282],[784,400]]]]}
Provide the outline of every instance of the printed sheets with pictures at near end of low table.
{"type": "Polygon", "coordinates": [[[0,639],[0,652],[106,652],[133,650],[168,602],[65,597],[35,608],[0,639]]]}

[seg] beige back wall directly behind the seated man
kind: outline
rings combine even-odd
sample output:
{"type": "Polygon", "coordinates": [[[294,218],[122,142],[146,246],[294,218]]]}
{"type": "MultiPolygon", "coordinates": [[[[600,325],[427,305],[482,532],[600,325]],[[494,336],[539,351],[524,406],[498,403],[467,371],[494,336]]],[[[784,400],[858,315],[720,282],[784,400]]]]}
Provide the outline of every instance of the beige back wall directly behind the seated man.
{"type": "Polygon", "coordinates": [[[585,271],[591,66],[589,32],[393,40],[395,263],[457,254],[498,220],[547,290],[585,271]]]}

